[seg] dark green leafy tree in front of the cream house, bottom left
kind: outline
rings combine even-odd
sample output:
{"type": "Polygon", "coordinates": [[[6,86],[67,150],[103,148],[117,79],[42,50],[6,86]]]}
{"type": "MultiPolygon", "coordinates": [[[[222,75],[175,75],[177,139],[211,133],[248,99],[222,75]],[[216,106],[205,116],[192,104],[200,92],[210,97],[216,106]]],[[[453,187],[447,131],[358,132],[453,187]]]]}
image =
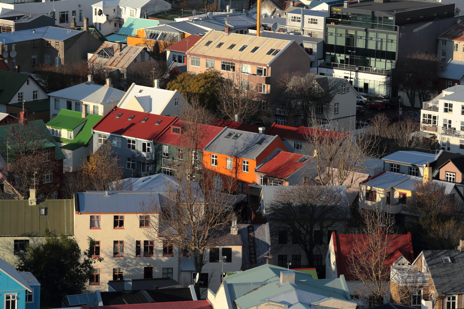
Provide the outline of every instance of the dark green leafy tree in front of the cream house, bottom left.
{"type": "MultiPolygon", "coordinates": [[[[81,251],[74,238],[53,234],[44,229],[45,241],[27,246],[19,255],[19,271],[30,271],[40,282],[42,307],[58,308],[66,295],[80,294],[93,274],[93,264],[103,258],[92,258],[91,250],[81,251]]],[[[89,248],[95,240],[88,238],[89,248]]]]}

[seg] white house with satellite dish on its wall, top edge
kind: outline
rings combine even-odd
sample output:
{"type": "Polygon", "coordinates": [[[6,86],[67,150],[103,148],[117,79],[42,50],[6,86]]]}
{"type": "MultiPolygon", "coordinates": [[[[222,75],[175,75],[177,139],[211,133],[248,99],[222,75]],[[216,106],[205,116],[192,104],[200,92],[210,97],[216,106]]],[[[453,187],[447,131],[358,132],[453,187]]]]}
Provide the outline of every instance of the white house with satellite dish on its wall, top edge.
{"type": "Polygon", "coordinates": [[[92,23],[103,35],[107,35],[117,33],[129,17],[147,18],[170,9],[171,5],[164,0],[100,1],[92,5],[92,23]]]}

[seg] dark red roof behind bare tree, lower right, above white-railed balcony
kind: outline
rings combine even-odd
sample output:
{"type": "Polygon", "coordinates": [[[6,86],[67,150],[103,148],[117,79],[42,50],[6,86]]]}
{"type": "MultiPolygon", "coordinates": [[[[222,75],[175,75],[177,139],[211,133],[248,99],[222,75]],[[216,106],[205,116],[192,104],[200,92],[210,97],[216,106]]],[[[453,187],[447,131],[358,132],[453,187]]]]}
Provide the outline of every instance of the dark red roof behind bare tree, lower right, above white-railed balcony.
{"type": "MultiPolygon", "coordinates": [[[[337,266],[337,276],[344,275],[346,280],[355,280],[348,271],[348,257],[350,256],[350,249],[353,246],[356,237],[365,238],[365,234],[335,234],[332,232],[334,238],[334,251],[335,262],[337,266]],[[335,236],[335,238],[334,238],[335,236]]],[[[412,251],[411,233],[407,234],[389,234],[387,238],[389,242],[396,248],[388,257],[389,263],[393,264],[397,259],[403,255],[410,263],[414,261],[414,252],[412,251]]]]}

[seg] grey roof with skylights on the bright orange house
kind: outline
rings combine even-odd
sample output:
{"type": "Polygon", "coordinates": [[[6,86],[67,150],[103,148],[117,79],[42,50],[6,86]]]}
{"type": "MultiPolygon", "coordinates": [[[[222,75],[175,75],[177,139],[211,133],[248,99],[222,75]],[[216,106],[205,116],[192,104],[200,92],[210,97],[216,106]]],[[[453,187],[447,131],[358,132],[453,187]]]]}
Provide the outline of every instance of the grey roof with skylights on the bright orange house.
{"type": "Polygon", "coordinates": [[[264,151],[264,149],[266,149],[272,141],[274,141],[274,139],[278,138],[279,137],[277,135],[269,136],[260,133],[229,129],[226,127],[216,136],[215,139],[206,145],[205,150],[231,157],[255,160],[258,155],[264,151]],[[226,135],[229,134],[229,132],[233,132],[233,134],[231,137],[226,138],[226,135]],[[241,135],[237,139],[233,139],[233,136],[236,133],[241,135]],[[264,141],[258,144],[263,138],[264,141]]]}

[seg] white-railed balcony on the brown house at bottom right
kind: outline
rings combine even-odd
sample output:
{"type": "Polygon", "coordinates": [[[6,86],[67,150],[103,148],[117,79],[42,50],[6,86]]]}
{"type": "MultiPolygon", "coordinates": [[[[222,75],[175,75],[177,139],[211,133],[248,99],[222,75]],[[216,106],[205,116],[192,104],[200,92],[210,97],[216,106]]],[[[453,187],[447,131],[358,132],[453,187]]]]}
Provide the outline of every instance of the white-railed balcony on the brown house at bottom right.
{"type": "Polygon", "coordinates": [[[392,266],[390,279],[399,286],[430,285],[430,273],[420,272],[419,265],[392,266]]]}

